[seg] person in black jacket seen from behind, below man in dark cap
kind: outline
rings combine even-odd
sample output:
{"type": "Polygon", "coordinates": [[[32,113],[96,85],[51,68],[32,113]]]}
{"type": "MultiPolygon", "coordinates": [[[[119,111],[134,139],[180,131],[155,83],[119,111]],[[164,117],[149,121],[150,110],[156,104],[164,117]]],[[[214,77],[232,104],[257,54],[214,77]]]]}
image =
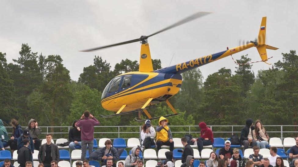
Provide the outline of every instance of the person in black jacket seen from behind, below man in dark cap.
{"type": "Polygon", "coordinates": [[[23,144],[24,146],[18,150],[18,163],[20,164],[20,167],[25,167],[27,161],[32,161],[31,151],[28,148],[29,140],[24,139],[23,144]]]}

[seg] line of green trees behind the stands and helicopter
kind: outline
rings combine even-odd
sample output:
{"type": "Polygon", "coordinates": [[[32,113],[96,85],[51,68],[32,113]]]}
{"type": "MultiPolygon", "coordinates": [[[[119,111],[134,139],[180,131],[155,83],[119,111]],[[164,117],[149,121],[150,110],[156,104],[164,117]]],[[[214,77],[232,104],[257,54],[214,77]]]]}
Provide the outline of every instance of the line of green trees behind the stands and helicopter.
{"type": "MultiPolygon", "coordinates": [[[[71,126],[85,110],[96,116],[102,126],[144,124],[133,121],[132,118],[138,117],[136,113],[107,119],[99,117],[99,114],[113,114],[100,104],[101,92],[107,83],[121,73],[138,71],[137,61],[121,60],[112,70],[110,63],[95,56],[94,63],[84,67],[78,81],[74,81],[60,55],[38,54],[31,51],[28,44],[22,44],[19,54],[8,64],[6,53],[0,52],[0,113],[5,126],[10,126],[12,118],[23,126],[27,126],[31,118],[36,119],[39,126],[71,126]]],[[[248,55],[237,60],[239,63],[249,61],[248,55]]],[[[159,59],[152,62],[154,70],[162,68],[159,59]]],[[[265,125],[297,125],[296,51],[283,53],[281,61],[268,70],[257,71],[256,75],[251,70],[252,65],[236,65],[234,73],[221,68],[208,75],[204,82],[199,68],[183,73],[180,92],[169,99],[182,114],[170,117],[169,121],[172,125],[197,125],[201,121],[207,125],[245,125],[247,118],[253,118],[265,125]]],[[[170,114],[171,110],[159,103],[151,106],[151,113],[158,117],[170,114]]],[[[145,118],[144,114],[140,115],[145,118]]],[[[158,121],[152,124],[157,125],[158,121]]],[[[291,128],[289,130],[296,130],[291,128]]],[[[227,130],[225,127],[217,129],[227,130]]],[[[179,130],[183,127],[172,128],[172,131],[179,130]]]]}

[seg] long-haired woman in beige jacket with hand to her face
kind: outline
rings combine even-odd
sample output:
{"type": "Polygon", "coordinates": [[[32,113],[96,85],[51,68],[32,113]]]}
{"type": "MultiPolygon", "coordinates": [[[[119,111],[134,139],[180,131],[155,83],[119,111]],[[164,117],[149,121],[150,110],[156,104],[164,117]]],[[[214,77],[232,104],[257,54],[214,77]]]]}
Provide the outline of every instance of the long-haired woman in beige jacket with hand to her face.
{"type": "Polygon", "coordinates": [[[266,145],[268,145],[268,139],[269,136],[266,133],[265,128],[263,127],[260,120],[256,120],[255,123],[255,129],[253,130],[253,140],[256,141],[256,146],[258,148],[266,148],[266,145]]]}

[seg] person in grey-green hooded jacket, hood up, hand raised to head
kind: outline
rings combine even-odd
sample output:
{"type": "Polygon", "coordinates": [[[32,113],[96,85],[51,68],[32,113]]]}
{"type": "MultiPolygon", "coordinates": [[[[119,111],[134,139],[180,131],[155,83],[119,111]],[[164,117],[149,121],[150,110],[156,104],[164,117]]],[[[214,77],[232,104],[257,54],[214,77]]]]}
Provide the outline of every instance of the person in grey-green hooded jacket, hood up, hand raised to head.
{"type": "Polygon", "coordinates": [[[39,150],[42,141],[38,138],[38,135],[42,134],[42,129],[38,127],[37,121],[34,119],[29,120],[26,129],[29,130],[29,134],[33,139],[35,150],[39,150]]]}

